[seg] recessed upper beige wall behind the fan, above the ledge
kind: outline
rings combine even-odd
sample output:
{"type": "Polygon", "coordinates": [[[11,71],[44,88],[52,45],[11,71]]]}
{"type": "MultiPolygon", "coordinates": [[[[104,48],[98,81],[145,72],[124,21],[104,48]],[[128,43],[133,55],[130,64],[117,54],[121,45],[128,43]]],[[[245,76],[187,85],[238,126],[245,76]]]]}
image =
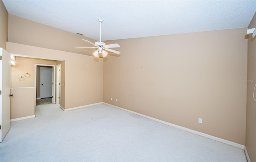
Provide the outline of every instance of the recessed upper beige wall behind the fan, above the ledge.
{"type": "Polygon", "coordinates": [[[91,56],[94,49],[76,49],[75,47],[90,46],[90,44],[82,41],[82,39],[96,42],[96,40],[78,34],[66,32],[11,14],[9,14],[8,32],[8,42],[74,53],[90,52],[91,56]]]}

